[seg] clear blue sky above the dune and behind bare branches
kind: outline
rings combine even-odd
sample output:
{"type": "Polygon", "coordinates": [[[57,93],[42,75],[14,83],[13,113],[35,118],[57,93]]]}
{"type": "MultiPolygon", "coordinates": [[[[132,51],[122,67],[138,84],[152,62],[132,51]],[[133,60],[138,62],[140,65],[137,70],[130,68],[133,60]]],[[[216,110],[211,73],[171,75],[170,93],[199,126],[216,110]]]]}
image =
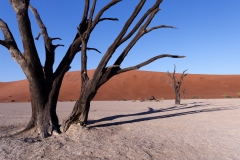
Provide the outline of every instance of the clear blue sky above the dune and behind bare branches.
{"type": "MultiPolygon", "coordinates": [[[[98,0],[96,11],[109,1],[98,0]]],[[[62,38],[62,41],[55,41],[55,43],[65,45],[56,50],[55,68],[75,36],[76,28],[82,17],[83,2],[84,0],[31,1],[41,15],[49,35],[62,38]]],[[[96,68],[138,2],[139,0],[122,0],[104,14],[103,17],[118,18],[119,21],[101,22],[93,31],[89,47],[98,48],[102,54],[88,52],[88,69],[96,68]]],[[[154,0],[147,0],[143,10],[145,11],[154,2],[154,0]]],[[[161,11],[155,16],[150,26],[165,24],[178,29],[158,29],[142,37],[130,51],[122,67],[138,64],[158,54],[168,53],[187,57],[160,59],[141,70],[172,71],[176,64],[177,72],[188,69],[188,73],[194,74],[239,74],[239,8],[240,0],[164,0],[161,4],[161,11]]],[[[31,12],[29,15],[33,35],[36,37],[40,30],[31,12]]],[[[8,0],[0,0],[0,18],[8,23],[22,50],[16,16],[8,0]]],[[[0,39],[3,39],[2,32],[0,32],[0,39]]],[[[35,43],[41,61],[44,62],[42,37],[35,43]]],[[[110,63],[115,61],[123,47],[124,45],[116,51],[110,63]]],[[[0,55],[0,81],[25,79],[25,75],[11,58],[9,51],[2,46],[0,46],[0,55]]],[[[71,67],[72,71],[80,70],[79,54],[75,57],[71,67]]]]}

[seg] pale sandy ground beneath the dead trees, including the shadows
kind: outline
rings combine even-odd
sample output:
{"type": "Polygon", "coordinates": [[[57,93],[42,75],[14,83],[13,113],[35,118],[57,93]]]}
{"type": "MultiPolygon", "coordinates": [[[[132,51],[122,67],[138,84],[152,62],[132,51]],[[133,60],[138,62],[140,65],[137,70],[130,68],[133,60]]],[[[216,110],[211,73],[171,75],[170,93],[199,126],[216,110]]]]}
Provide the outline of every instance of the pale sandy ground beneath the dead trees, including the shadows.
{"type": "MultiPolygon", "coordinates": [[[[89,129],[46,140],[4,138],[30,119],[29,103],[0,104],[0,159],[240,159],[240,99],[92,102],[89,129]]],[[[73,102],[58,104],[60,122],[73,102]]]]}

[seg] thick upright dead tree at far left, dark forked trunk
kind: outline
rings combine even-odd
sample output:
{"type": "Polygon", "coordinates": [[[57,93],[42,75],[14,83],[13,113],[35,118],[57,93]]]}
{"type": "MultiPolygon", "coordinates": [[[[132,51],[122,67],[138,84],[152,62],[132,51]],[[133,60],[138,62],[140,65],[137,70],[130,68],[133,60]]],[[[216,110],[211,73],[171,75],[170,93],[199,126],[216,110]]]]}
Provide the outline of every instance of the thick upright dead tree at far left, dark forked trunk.
{"type": "MultiPolygon", "coordinates": [[[[20,65],[29,82],[32,115],[24,131],[36,128],[42,137],[47,137],[53,130],[60,132],[56,114],[56,104],[60,86],[64,74],[70,69],[70,64],[74,56],[77,52],[81,51],[82,37],[79,35],[83,35],[89,28],[87,27],[87,19],[83,17],[79,24],[79,29],[76,29],[76,36],[72,44],[69,46],[57,69],[53,72],[55,49],[63,45],[53,45],[52,41],[61,39],[51,38],[49,36],[37,10],[29,4],[29,1],[30,0],[10,0],[10,4],[17,16],[19,32],[24,49],[23,52],[19,50],[8,25],[2,19],[0,19],[0,29],[2,30],[4,39],[0,40],[0,44],[9,50],[13,59],[20,65]],[[40,28],[40,34],[36,39],[38,39],[40,35],[42,35],[44,39],[46,60],[43,66],[40,62],[32,34],[28,15],[29,8],[33,12],[40,28]]],[[[112,1],[106,7],[113,6],[117,2],[118,1],[112,1]]],[[[99,14],[99,16],[101,16],[101,14],[99,14]]],[[[95,24],[91,24],[91,26],[96,26],[101,20],[103,19],[98,19],[98,21],[95,21],[95,24]]],[[[86,46],[83,45],[83,47],[86,46]]],[[[94,48],[84,48],[84,50],[86,49],[96,50],[94,48]]]]}

